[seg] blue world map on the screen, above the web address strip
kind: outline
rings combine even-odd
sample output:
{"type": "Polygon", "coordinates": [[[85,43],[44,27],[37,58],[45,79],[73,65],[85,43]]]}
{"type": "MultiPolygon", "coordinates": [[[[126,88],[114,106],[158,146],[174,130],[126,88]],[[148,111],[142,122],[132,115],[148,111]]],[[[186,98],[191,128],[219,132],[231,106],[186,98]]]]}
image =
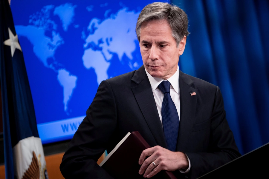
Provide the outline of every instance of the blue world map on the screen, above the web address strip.
{"type": "Polygon", "coordinates": [[[135,25],[152,1],[30,2],[11,9],[37,124],[85,115],[101,81],[143,64],[135,25]]]}

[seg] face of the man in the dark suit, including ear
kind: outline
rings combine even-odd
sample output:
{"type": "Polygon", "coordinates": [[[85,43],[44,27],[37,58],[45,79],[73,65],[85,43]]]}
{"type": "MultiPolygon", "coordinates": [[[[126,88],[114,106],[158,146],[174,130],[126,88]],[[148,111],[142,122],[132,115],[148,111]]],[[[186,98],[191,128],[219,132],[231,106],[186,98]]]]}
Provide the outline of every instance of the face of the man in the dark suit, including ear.
{"type": "Polygon", "coordinates": [[[185,44],[186,36],[177,47],[172,30],[166,20],[142,23],[140,52],[146,70],[153,77],[166,80],[176,72],[179,56],[184,52],[185,44]]]}

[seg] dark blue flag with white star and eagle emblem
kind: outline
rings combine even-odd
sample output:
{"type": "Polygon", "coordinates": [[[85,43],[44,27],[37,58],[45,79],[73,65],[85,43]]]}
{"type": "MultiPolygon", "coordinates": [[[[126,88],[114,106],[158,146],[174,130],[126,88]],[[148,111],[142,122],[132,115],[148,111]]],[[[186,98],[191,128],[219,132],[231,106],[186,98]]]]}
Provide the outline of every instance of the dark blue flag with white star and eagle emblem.
{"type": "Polygon", "coordinates": [[[6,179],[48,178],[22,47],[8,0],[0,0],[0,80],[6,179]],[[15,176],[14,176],[15,175],[15,176]]]}

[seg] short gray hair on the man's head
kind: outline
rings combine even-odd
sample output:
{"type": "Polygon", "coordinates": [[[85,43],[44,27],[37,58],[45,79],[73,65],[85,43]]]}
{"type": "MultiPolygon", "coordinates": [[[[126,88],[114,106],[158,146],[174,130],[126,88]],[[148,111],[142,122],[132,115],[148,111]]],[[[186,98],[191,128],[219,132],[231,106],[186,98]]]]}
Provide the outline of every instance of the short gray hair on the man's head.
{"type": "Polygon", "coordinates": [[[169,23],[178,47],[181,39],[189,35],[188,16],[181,8],[164,2],[148,4],[141,11],[135,27],[138,41],[140,41],[140,29],[143,22],[163,19],[169,23]]]}

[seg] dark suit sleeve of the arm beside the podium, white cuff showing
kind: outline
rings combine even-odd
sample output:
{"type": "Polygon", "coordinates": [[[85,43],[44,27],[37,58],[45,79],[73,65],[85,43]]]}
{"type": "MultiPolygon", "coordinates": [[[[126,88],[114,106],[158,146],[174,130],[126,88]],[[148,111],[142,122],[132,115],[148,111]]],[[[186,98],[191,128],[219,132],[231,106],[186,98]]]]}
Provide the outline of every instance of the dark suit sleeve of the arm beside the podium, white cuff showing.
{"type": "Polygon", "coordinates": [[[223,98],[218,87],[211,115],[210,142],[207,152],[185,153],[191,162],[191,178],[198,178],[241,156],[226,120],[223,98]]]}

